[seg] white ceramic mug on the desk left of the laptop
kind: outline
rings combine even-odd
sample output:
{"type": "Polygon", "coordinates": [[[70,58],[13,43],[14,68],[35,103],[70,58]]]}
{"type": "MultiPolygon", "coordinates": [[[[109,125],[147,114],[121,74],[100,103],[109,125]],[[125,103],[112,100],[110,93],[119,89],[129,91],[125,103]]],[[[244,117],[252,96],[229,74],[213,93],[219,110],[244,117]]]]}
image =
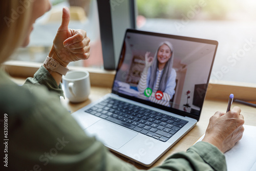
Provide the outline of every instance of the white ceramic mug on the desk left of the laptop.
{"type": "Polygon", "coordinates": [[[88,71],[69,71],[62,76],[65,96],[70,102],[78,103],[88,99],[91,83],[88,71]]]}

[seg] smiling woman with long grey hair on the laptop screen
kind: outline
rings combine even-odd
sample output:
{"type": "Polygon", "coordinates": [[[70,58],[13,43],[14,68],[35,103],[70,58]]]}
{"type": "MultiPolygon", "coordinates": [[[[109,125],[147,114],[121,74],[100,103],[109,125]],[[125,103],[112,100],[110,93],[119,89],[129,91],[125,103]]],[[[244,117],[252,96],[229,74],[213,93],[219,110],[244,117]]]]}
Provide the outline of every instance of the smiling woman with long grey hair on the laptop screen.
{"type": "Polygon", "coordinates": [[[150,101],[168,105],[173,98],[176,86],[173,60],[173,45],[168,41],[161,42],[154,57],[150,56],[150,52],[145,53],[145,68],[137,88],[150,101]]]}

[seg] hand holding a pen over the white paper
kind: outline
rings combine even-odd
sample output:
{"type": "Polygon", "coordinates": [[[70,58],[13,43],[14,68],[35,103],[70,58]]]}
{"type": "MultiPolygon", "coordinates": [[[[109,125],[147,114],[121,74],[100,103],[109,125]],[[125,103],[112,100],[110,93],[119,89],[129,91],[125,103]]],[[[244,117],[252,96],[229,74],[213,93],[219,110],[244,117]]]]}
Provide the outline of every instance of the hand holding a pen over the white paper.
{"type": "Polygon", "coordinates": [[[241,109],[234,106],[231,109],[234,95],[230,94],[227,113],[216,112],[210,118],[202,141],[211,143],[225,153],[231,149],[243,136],[244,117],[241,109]]]}

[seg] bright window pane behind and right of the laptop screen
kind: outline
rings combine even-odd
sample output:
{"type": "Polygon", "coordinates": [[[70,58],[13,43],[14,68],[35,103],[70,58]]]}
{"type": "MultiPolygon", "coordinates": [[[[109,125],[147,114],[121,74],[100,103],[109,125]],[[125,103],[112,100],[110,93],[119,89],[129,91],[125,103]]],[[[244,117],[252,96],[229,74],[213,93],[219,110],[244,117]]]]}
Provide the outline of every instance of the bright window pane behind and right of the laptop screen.
{"type": "Polygon", "coordinates": [[[213,83],[256,83],[255,1],[137,0],[136,5],[137,29],[219,42],[213,83]]]}

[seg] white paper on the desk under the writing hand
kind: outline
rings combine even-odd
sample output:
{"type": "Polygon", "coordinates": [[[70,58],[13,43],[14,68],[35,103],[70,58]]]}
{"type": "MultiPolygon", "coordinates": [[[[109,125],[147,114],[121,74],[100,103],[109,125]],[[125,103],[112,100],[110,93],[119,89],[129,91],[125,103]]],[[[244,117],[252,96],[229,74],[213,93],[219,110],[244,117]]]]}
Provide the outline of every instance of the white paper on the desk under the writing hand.
{"type": "MultiPolygon", "coordinates": [[[[232,149],[225,153],[228,171],[256,170],[256,126],[244,125],[244,134],[232,149]]],[[[198,140],[201,141],[204,135],[198,140]]],[[[198,142],[197,141],[197,142],[198,142]]]]}

